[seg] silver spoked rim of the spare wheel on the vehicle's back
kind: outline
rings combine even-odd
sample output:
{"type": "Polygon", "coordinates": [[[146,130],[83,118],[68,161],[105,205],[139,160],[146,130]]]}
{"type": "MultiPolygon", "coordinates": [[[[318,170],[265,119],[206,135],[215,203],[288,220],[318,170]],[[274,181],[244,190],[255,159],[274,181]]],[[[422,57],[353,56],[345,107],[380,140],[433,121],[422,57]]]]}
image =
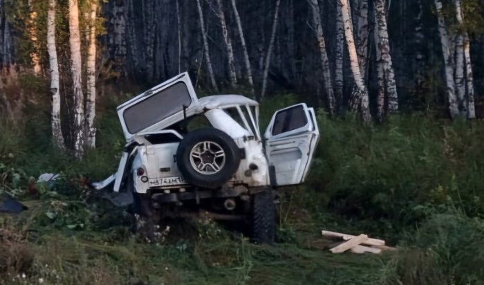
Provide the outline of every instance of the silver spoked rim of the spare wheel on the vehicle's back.
{"type": "Polygon", "coordinates": [[[197,143],[190,151],[190,163],[196,172],[213,175],[221,171],[225,165],[225,151],[210,140],[197,143]]]}

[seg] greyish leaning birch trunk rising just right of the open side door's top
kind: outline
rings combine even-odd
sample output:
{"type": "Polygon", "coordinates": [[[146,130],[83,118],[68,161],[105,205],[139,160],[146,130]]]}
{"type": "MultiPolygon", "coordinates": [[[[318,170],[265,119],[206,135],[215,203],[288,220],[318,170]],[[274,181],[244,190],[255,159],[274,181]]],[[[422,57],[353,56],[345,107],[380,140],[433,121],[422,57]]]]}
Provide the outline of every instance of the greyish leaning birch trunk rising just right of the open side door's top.
{"type": "Polygon", "coordinates": [[[326,53],[326,42],[324,40],[323,27],[321,26],[319,3],[317,0],[308,0],[308,3],[311,7],[311,11],[313,12],[313,28],[315,28],[316,39],[319,44],[319,56],[321,57],[321,67],[323,71],[324,91],[326,92],[326,96],[328,98],[329,113],[331,116],[333,116],[335,114],[335,93],[333,90],[328,54],[326,53]]]}

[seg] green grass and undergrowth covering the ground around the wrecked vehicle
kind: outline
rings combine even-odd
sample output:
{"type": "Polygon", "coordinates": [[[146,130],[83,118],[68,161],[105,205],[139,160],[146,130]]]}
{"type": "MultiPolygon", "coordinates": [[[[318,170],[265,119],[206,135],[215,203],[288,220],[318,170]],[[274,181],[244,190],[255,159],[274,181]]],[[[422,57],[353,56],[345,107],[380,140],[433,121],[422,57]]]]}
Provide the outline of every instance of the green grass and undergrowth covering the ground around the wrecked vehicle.
{"type": "MultiPolygon", "coordinates": [[[[0,120],[0,194],[30,209],[0,215],[0,284],[483,284],[484,125],[405,115],[364,126],[318,114],[322,134],[304,186],[283,191],[280,242],[254,246],[213,221],[172,222],[145,243],[131,218],[95,198],[84,177],[115,171],[124,145],[105,99],[98,147],[77,161],[50,145],[48,112],[0,120]],[[28,185],[61,172],[55,191],[28,185]],[[397,252],[333,255],[323,229],[386,239],[397,252]],[[24,277],[25,275],[25,277],[24,277]],[[142,283],[141,283],[142,282],[142,283]]],[[[295,98],[268,100],[275,109],[295,98]]],[[[33,109],[31,109],[33,110],[33,109]]]]}

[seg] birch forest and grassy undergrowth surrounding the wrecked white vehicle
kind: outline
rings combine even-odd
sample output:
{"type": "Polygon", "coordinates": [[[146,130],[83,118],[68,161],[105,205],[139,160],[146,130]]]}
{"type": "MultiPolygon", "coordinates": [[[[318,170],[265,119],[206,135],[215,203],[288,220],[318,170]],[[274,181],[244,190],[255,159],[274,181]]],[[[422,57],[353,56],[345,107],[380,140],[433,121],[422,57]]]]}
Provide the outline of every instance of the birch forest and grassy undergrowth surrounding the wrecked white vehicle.
{"type": "Polygon", "coordinates": [[[483,5],[0,0],[0,194],[30,207],[0,216],[0,284],[483,283],[483,5]],[[259,100],[262,122],[318,107],[277,246],[198,220],[143,243],[86,186],[119,161],[115,107],[183,71],[201,96],[259,100]],[[331,255],[322,229],[399,250],[331,255]]]}

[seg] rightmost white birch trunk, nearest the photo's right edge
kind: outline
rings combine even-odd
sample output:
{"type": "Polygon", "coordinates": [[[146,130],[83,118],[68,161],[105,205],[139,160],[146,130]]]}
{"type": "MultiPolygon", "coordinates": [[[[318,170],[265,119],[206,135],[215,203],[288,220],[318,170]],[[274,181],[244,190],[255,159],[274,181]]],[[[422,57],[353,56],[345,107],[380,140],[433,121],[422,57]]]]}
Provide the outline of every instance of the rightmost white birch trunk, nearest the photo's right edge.
{"type": "MultiPolygon", "coordinates": [[[[454,4],[456,6],[457,21],[459,25],[463,27],[464,12],[462,10],[461,0],[454,0],[454,4]]],[[[461,106],[463,107],[463,115],[469,119],[474,119],[476,118],[476,107],[474,104],[474,75],[472,74],[469,35],[467,35],[467,31],[464,30],[463,35],[460,35],[460,37],[462,40],[462,52],[461,54],[457,54],[458,63],[456,66],[456,85],[460,84],[457,74],[460,73],[460,68],[462,68],[464,86],[458,85],[457,90],[459,96],[461,92],[463,93],[463,98],[460,98],[462,104],[461,106]],[[462,57],[462,59],[460,57],[462,57]],[[462,66],[459,65],[460,60],[462,60],[462,66]]]]}

